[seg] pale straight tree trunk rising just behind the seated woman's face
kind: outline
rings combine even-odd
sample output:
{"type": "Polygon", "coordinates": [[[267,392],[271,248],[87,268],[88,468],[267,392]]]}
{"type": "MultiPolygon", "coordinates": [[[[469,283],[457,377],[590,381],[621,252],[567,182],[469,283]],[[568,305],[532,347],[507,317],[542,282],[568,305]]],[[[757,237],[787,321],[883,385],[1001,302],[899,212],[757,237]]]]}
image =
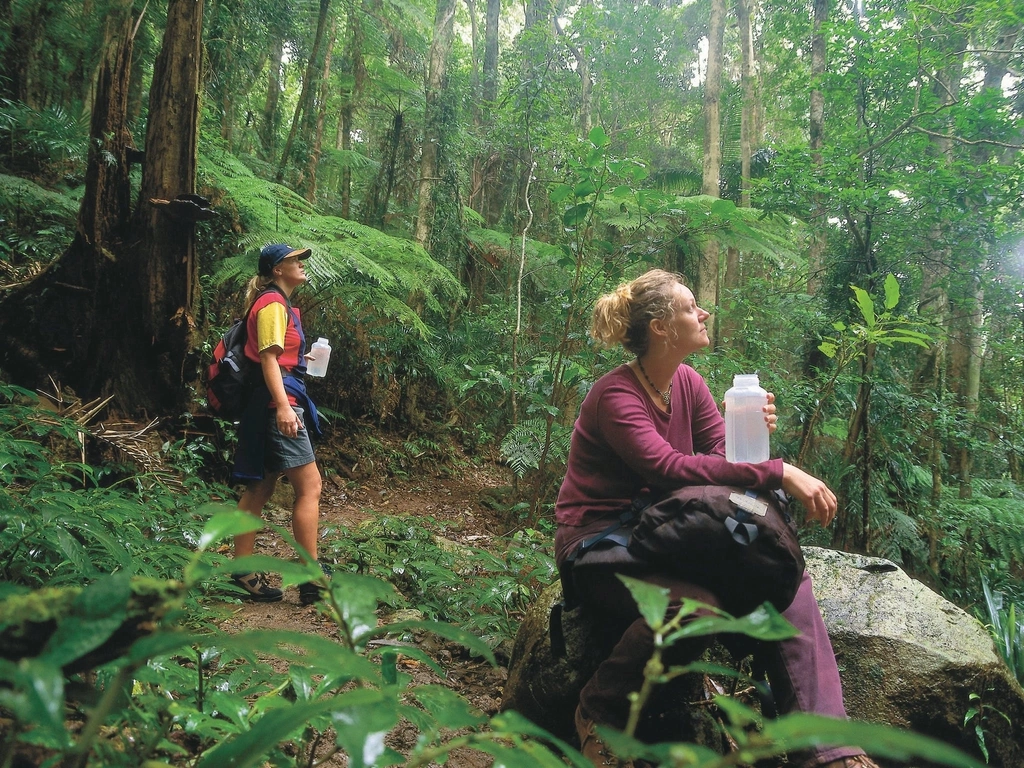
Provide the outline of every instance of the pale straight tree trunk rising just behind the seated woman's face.
{"type": "MultiPolygon", "coordinates": [[[[701,191],[714,198],[719,197],[719,179],[722,167],[721,118],[722,62],[725,38],[725,0],[712,0],[711,27],[708,32],[708,75],[705,79],[705,159],[701,191]]],[[[718,242],[709,238],[700,255],[700,270],[697,276],[697,301],[709,311],[718,304],[718,242]]],[[[715,346],[715,316],[708,318],[708,335],[715,346]]]]}

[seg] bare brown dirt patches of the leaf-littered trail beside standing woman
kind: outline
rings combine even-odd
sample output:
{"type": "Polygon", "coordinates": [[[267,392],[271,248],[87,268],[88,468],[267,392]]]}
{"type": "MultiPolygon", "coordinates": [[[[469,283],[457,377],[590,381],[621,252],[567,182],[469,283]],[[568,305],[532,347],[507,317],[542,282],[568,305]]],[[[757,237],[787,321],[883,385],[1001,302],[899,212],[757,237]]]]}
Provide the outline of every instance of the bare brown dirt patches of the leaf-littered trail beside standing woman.
{"type": "MultiPolygon", "coordinates": [[[[322,463],[330,466],[329,461],[322,463]]],[[[346,473],[347,474],[347,473],[346,473]]],[[[507,523],[490,509],[484,499],[488,492],[506,485],[508,473],[493,465],[481,467],[460,466],[458,471],[444,470],[433,473],[420,472],[406,479],[371,473],[358,479],[345,479],[331,473],[324,485],[321,500],[321,530],[332,526],[352,528],[359,523],[381,515],[409,515],[430,517],[444,523],[445,538],[474,548],[488,549],[496,540],[507,534],[507,523]]],[[[279,488],[267,518],[288,526],[290,522],[291,489],[279,488]],[[280,505],[280,506],[279,506],[280,505]]],[[[270,531],[260,535],[257,552],[287,557],[290,548],[270,531]]],[[[279,603],[242,603],[233,615],[222,625],[229,632],[250,629],[288,630],[316,633],[336,638],[337,627],[315,606],[299,603],[296,589],[285,592],[279,603]]],[[[492,667],[480,657],[473,657],[465,649],[431,635],[417,636],[417,644],[445,671],[443,678],[429,667],[413,659],[399,662],[399,669],[413,678],[414,685],[441,684],[450,687],[470,701],[483,714],[498,712],[503,685],[507,678],[507,650],[502,646],[496,651],[498,667],[492,667]]],[[[392,730],[388,745],[408,753],[416,742],[418,731],[404,721],[392,730]]],[[[327,739],[325,739],[327,740],[327,739]]],[[[330,746],[325,744],[324,751],[330,746]]],[[[451,768],[484,768],[490,765],[487,756],[460,750],[452,754],[446,765],[451,768]]],[[[344,757],[334,757],[324,765],[346,766],[344,757]]]]}

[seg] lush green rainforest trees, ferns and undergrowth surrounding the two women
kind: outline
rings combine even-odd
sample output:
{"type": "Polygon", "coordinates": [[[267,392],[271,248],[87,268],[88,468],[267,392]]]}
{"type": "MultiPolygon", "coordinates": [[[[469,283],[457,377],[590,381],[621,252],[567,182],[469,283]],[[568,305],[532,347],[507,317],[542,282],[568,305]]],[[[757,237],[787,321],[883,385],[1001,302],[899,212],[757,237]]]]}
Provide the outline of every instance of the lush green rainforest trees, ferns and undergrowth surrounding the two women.
{"type": "Polygon", "coordinates": [[[590,309],[652,266],[714,311],[716,396],[758,372],[773,455],[836,489],[806,543],[898,563],[1024,678],[1022,60],[1015,0],[0,0],[0,766],[562,765],[407,691],[374,611],[514,636],[625,359],[590,309]],[[517,531],[475,584],[429,521],[337,536],[330,641],[208,600],[247,522],[203,372],[272,242],[313,253],[325,470],[496,463],[517,531]]]}

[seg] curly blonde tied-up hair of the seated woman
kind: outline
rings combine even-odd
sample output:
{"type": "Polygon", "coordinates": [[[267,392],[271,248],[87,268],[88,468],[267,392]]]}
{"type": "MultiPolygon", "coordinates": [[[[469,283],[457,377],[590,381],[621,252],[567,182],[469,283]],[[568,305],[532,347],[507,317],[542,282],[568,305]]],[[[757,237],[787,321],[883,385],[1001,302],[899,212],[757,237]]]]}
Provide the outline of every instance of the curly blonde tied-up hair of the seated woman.
{"type": "Polygon", "coordinates": [[[590,335],[606,347],[622,344],[637,357],[650,344],[650,322],[671,317],[676,311],[676,286],[683,275],[651,269],[630,283],[623,283],[594,304],[590,335]]]}

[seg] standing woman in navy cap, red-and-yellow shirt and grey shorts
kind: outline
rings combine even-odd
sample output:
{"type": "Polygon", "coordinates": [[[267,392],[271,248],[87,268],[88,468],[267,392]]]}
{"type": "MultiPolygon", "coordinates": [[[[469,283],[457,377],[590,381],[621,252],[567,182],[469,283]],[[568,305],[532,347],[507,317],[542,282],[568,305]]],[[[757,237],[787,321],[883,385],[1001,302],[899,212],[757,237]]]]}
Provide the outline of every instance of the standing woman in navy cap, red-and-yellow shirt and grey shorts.
{"type": "MultiPolygon", "coordinates": [[[[306,372],[302,322],[291,304],[292,292],[306,282],[302,262],[309,255],[308,248],[266,246],[260,252],[258,274],[247,287],[246,357],[259,366],[262,375],[239,424],[231,478],[246,483],[239,509],[261,517],[278,478],[285,475],[295,489],[292,534],[302,548],[299,557],[305,560],[308,554],[315,562],[322,483],[310,431],[318,437],[321,430],[302,380],[306,372]]],[[[237,536],[234,557],[251,555],[255,544],[255,532],[237,536]]],[[[324,572],[330,574],[326,567],[324,572]]],[[[262,573],[237,573],[232,581],[249,600],[276,602],[284,597],[262,573]]],[[[299,585],[303,605],[318,597],[316,584],[299,585]]]]}

